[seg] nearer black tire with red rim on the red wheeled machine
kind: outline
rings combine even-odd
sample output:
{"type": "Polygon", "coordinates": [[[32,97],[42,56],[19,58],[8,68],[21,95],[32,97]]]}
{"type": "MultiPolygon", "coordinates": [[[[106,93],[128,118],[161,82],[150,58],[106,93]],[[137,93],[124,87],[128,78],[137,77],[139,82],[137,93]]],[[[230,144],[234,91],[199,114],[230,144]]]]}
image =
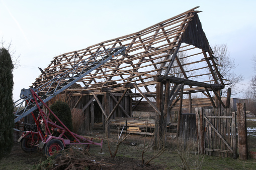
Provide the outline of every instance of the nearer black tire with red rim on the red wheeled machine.
{"type": "MultiPolygon", "coordinates": [[[[64,149],[64,145],[60,140],[52,139],[44,145],[43,153],[46,157],[49,157],[51,155],[54,155],[55,151],[58,152],[63,149],[64,149]]],[[[58,156],[58,154],[57,154],[57,156],[58,156]]]]}

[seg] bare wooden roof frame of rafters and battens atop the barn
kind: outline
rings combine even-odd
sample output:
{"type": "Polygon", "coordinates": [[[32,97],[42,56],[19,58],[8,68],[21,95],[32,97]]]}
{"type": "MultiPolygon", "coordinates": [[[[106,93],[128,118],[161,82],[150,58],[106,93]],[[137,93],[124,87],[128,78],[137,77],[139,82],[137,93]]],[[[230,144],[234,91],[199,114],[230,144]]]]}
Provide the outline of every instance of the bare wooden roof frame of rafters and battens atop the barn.
{"type": "MultiPolygon", "coordinates": [[[[186,90],[183,86],[178,88],[178,85],[176,85],[168,92],[169,94],[166,93],[166,97],[171,100],[171,102],[166,103],[167,108],[178,101],[178,99],[175,100],[175,97],[181,95],[180,88],[184,88],[183,94],[202,92],[204,95],[211,98],[208,94],[209,90],[212,90],[211,88],[213,88],[213,90],[222,89],[224,88],[224,83],[222,75],[218,71],[215,59],[212,56],[212,50],[208,40],[201,28],[201,22],[197,15],[198,12],[195,11],[197,8],[198,7],[193,8],[136,33],[56,56],[32,84],[32,87],[38,88],[78,62],[91,58],[93,54],[100,50],[121,45],[127,47],[125,54],[123,56],[116,56],[116,58],[111,59],[109,62],[79,80],[83,83],[84,87],[79,89],[79,92],[78,90],[73,91],[76,93],[72,95],[79,96],[78,93],[80,93],[80,95],[93,95],[97,100],[97,96],[95,95],[103,91],[106,93],[121,92],[130,84],[136,83],[135,86],[129,86],[133,92],[129,92],[127,95],[130,95],[133,99],[134,96],[140,96],[146,100],[148,100],[148,96],[155,99],[156,93],[151,93],[155,91],[155,89],[149,87],[157,84],[158,80],[155,80],[155,78],[157,79],[163,76],[168,79],[169,75],[177,76],[182,74],[184,80],[175,80],[175,78],[168,80],[175,84],[187,85],[190,87],[190,90],[186,90]],[[201,49],[202,52],[198,52],[197,49],[201,49]],[[179,58],[179,54],[184,51],[186,51],[188,55],[179,58]],[[209,56],[207,56],[207,52],[209,56]],[[185,60],[185,63],[181,62],[181,60],[185,58],[189,60],[185,60]],[[176,62],[177,65],[174,65],[174,62],[176,62]],[[203,63],[205,63],[205,66],[203,66],[203,63]],[[184,69],[185,66],[191,66],[193,69],[186,70],[184,69]],[[179,73],[172,71],[172,69],[175,70],[177,68],[180,70],[179,73]],[[191,75],[190,73],[192,72],[197,73],[191,75]],[[209,75],[213,77],[215,84],[209,85],[204,83],[209,82],[209,75]],[[220,81],[221,85],[218,84],[218,81],[220,81]],[[194,88],[194,86],[196,87],[194,88]],[[202,88],[197,89],[197,87],[202,88]],[[134,93],[134,88],[140,90],[138,90],[139,94],[132,94],[134,93]],[[142,93],[142,91],[145,91],[145,93],[142,93]]],[[[76,70],[76,72],[78,71],[79,69],[76,70]]],[[[72,89],[69,89],[69,91],[72,91],[72,89]]],[[[98,100],[97,102],[100,103],[98,100]]],[[[138,101],[133,108],[135,108],[139,102],[140,101],[138,101]]],[[[152,102],[148,103],[153,105],[152,102]]],[[[104,110],[103,106],[101,109],[104,110]]],[[[123,110],[123,108],[121,109],[123,110]]],[[[159,110],[155,111],[159,113],[159,110]]]]}

